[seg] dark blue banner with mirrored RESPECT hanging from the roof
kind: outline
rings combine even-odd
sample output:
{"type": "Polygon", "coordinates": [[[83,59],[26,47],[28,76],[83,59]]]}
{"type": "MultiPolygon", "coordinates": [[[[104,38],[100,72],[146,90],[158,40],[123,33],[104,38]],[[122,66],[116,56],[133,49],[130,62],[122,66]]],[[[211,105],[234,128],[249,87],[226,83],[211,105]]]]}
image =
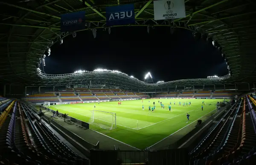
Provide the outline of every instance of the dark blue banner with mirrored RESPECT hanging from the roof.
{"type": "Polygon", "coordinates": [[[85,12],[73,12],[61,15],[61,32],[75,32],[85,28],[85,12]]]}

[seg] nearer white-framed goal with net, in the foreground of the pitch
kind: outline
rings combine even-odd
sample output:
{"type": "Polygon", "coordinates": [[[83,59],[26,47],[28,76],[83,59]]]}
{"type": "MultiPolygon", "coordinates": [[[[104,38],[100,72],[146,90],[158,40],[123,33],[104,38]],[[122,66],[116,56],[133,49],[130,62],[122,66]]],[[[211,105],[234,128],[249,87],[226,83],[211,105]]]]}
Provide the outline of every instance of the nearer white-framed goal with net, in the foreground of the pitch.
{"type": "Polygon", "coordinates": [[[101,110],[92,110],[92,116],[89,124],[96,125],[105,130],[116,128],[116,113],[105,112],[101,110]]]}

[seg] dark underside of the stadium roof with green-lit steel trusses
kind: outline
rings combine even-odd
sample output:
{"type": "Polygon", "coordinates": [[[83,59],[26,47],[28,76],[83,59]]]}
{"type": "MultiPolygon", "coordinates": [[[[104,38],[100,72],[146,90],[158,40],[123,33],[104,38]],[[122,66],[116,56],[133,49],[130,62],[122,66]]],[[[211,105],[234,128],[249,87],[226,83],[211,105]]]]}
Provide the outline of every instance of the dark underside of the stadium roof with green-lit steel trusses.
{"type": "Polygon", "coordinates": [[[186,18],[157,21],[152,1],[85,0],[83,4],[83,0],[7,0],[0,2],[0,83],[49,82],[37,75],[36,65],[47,47],[70,35],[60,32],[60,14],[86,11],[87,29],[84,30],[103,30],[107,28],[105,7],[128,3],[134,3],[136,14],[136,24],[128,26],[145,26],[145,30],[147,26],[168,26],[207,33],[226,54],[232,71],[227,81],[255,80],[254,0],[185,0],[186,18]]]}

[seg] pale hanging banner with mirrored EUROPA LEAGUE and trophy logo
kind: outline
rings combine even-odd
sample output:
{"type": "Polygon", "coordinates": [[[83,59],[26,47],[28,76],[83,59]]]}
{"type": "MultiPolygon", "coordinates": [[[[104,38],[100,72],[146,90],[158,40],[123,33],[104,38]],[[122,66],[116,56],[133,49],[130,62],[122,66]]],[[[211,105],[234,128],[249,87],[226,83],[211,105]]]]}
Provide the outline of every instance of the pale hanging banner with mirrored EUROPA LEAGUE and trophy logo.
{"type": "Polygon", "coordinates": [[[154,1],[154,20],[168,20],[186,17],[184,0],[154,1]]]}

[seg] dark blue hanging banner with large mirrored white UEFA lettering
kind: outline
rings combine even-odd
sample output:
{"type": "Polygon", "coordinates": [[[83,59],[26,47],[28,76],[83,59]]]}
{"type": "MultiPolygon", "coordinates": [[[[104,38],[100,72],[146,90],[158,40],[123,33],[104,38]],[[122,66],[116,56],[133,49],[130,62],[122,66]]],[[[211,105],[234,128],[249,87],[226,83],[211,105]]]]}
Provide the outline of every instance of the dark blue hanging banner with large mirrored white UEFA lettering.
{"type": "Polygon", "coordinates": [[[106,7],[106,25],[127,25],[135,23],[134,4],[106,7]]]}

